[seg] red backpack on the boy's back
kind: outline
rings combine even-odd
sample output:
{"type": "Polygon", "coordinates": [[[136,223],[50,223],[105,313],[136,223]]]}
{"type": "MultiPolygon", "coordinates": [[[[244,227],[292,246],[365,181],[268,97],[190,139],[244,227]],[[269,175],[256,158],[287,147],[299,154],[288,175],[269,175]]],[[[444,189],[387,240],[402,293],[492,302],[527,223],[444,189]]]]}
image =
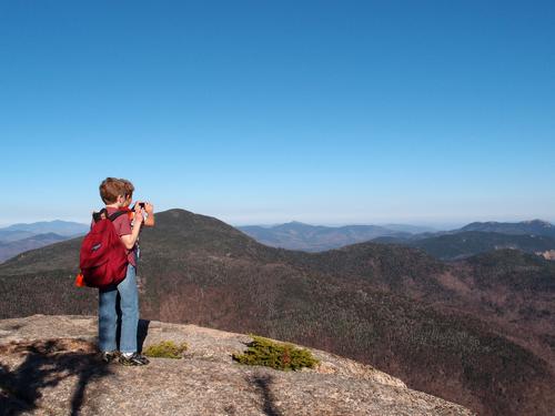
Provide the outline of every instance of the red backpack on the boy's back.
{"type": "Polygon", "coordinates": [[[108,216],[104,209],[93,214],[94,224],[81,243],[78,286],[105,288],[125,278],[128,253],[112,222],[127,213],[117,211],[108,216]]]}

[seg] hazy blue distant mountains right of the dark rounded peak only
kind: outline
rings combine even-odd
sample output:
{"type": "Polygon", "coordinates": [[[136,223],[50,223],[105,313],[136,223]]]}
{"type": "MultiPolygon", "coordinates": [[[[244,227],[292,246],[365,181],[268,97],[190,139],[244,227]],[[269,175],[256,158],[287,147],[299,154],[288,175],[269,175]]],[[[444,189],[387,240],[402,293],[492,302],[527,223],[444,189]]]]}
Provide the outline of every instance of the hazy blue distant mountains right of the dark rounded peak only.
{"type": "Polygon", "coordinates": [[[500,248],[517,248],[532,254],[555,250],[555,226],[541,220],[519,223],[476,222],[461,229],[436,232],[410,225],[330,227],[299,222],[239,229],[262,244],[306,252],[339,248],[365,241],[408,245],[445,261],[500,248]]]}

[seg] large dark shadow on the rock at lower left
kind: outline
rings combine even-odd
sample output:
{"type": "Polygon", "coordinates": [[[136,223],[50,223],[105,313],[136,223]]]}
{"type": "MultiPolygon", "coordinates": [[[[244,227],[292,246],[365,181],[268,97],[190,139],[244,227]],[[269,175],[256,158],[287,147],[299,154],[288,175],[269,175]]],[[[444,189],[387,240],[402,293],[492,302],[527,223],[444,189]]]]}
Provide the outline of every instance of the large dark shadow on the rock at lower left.
{"type": "Polygon", "coordinates": [[[93,344],[81,339],[49,339],[0,346],[0,415],[19,415],[38,407],[41,390],[77,377],[70,398],[71,415],[78,415],[89,382],[105,377],[111,371],[93,344]],[[9,368],[3,357],[23,358],[9,368]]]}

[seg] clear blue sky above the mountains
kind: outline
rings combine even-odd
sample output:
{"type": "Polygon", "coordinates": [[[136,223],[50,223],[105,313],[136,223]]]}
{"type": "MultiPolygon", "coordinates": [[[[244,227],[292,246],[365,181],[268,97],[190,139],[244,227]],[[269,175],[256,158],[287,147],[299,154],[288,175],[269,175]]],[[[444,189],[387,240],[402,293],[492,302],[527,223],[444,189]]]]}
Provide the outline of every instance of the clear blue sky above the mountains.
{"type": "Polygon", "coordinates": [[[0,224],[555,220],[554,1],[2,1],[0,224]]]}

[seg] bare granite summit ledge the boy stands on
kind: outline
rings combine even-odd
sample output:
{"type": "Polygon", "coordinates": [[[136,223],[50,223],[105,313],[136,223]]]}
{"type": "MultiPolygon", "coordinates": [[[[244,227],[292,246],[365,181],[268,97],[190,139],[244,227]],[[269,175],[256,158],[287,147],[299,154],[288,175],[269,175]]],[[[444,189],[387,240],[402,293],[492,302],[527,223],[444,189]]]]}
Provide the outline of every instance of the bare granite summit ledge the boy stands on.
{"type": "Polygon", "coordinates": [[[314,369],[234,362],[251,338],[196,325],[141,321],[144,347],[186,342],[182,359],[125,367],[97,352],[97,317],[0,321],[0,415],[472,415],[372,366],[309,348],[314,369]]]}

